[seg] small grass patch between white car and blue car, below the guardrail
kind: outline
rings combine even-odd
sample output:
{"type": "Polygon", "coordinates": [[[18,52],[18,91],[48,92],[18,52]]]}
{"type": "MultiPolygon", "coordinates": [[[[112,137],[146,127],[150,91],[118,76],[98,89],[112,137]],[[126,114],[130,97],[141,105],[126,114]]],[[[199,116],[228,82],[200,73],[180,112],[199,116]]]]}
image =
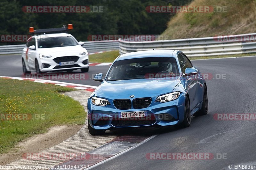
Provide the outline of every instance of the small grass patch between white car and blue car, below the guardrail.
{"type": "Polygon", "coordinates": [[[92,55],[89,55],[89,61],[91,63],[111,63],[119,55],[120,54],[118,50],[99,53],[99,54],[92,54],[92,55]]]}

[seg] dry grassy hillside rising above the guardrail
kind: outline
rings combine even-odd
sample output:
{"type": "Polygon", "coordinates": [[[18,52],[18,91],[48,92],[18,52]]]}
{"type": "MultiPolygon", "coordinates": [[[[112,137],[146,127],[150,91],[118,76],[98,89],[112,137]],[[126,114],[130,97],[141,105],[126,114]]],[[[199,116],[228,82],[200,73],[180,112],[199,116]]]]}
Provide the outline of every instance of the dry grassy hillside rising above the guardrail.
{"type": "Polygon", "coordinates": [[[187,5],[211,6],[213,11],[178,12],[170,18],[162,35],[174,40],[256,31],[255,0],[191,0],[187,5]]]}

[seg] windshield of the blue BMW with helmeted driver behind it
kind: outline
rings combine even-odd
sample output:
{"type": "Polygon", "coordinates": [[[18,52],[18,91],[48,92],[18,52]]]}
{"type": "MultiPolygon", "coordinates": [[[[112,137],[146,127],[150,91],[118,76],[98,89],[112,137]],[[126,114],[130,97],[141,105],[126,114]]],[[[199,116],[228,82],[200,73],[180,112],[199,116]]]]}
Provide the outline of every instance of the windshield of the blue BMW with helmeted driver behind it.
{"type": "Polygon", "coordinates": [[[106,80],[164,78],[179,75],[175,58],[148,57],[116,61],[111,67],[106,80]]]}

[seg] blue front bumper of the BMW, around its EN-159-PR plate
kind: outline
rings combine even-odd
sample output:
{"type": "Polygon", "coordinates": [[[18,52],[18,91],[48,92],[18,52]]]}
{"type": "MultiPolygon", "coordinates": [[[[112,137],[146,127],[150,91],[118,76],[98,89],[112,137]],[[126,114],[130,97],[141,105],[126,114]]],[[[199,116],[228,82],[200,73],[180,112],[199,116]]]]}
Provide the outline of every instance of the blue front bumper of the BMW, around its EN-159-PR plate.
{"type": "Polygon", "coordinates": [[[88,99],[88,123],[94,129],[113,129],[129,127],[170,126],[179,124],[184,120],[185,94],[181,93],[179,98],[169,102],[155,102],[152,98],[149,107],[142,109],[131,108],[129,110],[117,109],[113,101],[110,105],[96,106],[88,99]],[[118,118],[119,112],[145,111],[147,117],[140,118],[118,118]]]}

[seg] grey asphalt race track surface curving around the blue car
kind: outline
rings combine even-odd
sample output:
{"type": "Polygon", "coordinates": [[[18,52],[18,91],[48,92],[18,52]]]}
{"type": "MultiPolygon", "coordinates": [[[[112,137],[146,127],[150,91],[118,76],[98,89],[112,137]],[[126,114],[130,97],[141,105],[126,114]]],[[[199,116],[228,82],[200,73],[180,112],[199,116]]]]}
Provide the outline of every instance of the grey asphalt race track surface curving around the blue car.
{"type": "MultiPolygon", "coordinates": [[[[20,77],[20,55],[0,55],[0,75],[20,77]]],[[[256,57],[192,61],[206,80],[208,115],[192,117],[191,126],[159,133],[137,148],[94,169],[228,169],[229,165],[256,165],[255,120],[216,120],[214,114],[256,113],[256,57]],[[222,78],[219,75],[222,74],[222,78]],[[220,78],[220,79],[219,79],[220,78]],[[150,160],[148,153],[211,153],[210,160],[150,160]],[[226,156],[217,159],[216,155],[226,156]]],[[[109,66],[91,66],[88,74],[106,74],[109,66]]],[[[80,70],[75,70],[79,74],[80,70]]],[[[90,77],[91,78],[91,77],[90,77]]],[[[92,79],[66,80],[99,85],[92,79]]],[[[63,80],[65,81],[65,80],[63,80]]]]}

